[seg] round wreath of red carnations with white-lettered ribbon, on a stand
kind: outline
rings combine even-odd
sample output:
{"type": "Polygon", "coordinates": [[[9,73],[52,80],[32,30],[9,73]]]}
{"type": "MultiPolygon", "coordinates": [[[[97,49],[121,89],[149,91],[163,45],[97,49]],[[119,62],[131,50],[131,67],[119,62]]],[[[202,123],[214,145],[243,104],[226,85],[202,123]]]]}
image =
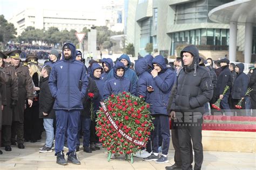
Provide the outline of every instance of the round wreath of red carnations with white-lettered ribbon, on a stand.
{"type": "Polygon", "coordinates": [[[128,155],[133,162],[132,154],[146,146],[150,132],[154,129],[149,107],[144,98],[123,92],[111,95],[101,102],[102,108],[97,112],[96,133],[111,154],[128,155]]]}

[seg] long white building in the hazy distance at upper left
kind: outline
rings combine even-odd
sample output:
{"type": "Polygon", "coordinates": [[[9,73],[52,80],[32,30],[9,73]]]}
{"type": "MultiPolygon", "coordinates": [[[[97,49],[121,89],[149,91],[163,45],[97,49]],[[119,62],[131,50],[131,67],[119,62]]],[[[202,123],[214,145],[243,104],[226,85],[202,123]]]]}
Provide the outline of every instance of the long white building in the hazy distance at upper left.
{"type": "Polygon", "coordinates": [[[74,29],[78,32],[84,27],[108,26],[112,31],[123,31],[123,6],[123,1],[117,3],[112,0],[105,1],[105,4],[99,4],[99,8],[91,10],[42,9],[38,6],[17,13],[9,22],[16,27],[18,36],[28,26],[45,30],[57,27],[59,31],[74,29]]]}

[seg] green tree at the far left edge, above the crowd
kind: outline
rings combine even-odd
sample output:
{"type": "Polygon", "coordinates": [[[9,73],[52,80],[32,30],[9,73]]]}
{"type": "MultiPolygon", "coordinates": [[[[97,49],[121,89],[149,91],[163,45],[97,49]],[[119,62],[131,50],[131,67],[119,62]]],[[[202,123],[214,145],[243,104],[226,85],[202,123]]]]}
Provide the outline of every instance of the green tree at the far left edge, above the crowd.
{"type": "Polygon", "coordinates": [[[15,39],[16,30],[14,24],[8,23],[4,15],[0,15],[0,42],[7,44],[8,41],[15,39]]]}

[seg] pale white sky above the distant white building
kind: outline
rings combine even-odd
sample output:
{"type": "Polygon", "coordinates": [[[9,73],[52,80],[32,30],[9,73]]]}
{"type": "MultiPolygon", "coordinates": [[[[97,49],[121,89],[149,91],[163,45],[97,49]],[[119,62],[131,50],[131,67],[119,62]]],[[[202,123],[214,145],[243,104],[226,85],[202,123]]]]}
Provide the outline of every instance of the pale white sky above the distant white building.
{"type": "Polygon", "coordinates": [[[0,15],[10,19],[26,8],[99,10],[103,4],[124,0],[0,0],[0,15]]]}

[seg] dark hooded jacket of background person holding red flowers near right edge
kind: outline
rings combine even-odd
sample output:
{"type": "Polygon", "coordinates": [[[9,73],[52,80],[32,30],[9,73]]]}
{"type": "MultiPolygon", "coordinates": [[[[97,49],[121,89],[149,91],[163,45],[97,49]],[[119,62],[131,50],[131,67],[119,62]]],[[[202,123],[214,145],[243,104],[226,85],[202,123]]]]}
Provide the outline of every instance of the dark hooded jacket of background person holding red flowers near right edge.
{"type": "Polygon", "coordinates": [[[237,67],[239,68],[239,74],[234,81],[231,96],[234,99],[241,99],[242,97],[245,97],[248,86],[248,76],[244,73],[245,66],[243,63],[239,63],[237,67]]]}

